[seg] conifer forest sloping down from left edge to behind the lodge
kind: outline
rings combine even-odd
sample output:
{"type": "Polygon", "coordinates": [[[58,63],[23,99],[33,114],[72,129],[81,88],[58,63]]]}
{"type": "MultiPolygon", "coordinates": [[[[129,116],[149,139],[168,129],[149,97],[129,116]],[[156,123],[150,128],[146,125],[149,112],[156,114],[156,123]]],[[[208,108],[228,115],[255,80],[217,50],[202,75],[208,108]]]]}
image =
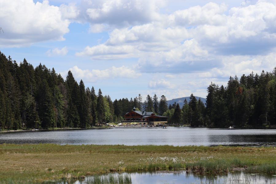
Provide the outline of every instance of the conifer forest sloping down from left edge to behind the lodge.
{"type": "Polygon", "coordinates": [[[94,87],[79,84],[71,71],[64,80],[54,68],[34,68],[26,59],[17,64],[0,52],[0,129],[18,128],[87,128],[123,120],[125,113],[137,109],[163,114],[167,99],[149,95],[111,100],[96,94],[94,87]]]}

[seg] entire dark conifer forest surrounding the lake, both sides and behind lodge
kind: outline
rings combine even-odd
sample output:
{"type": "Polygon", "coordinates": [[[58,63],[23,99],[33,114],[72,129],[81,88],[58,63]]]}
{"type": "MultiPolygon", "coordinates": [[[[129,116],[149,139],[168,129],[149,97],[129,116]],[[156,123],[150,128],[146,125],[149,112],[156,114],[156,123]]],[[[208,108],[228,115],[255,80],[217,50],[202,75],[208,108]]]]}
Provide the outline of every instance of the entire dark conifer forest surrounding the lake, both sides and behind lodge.
{"type": "MultiPolygon", "coordinates": [[[[33,67],[26,59],[13,61],[0,52],[0,130],[19,128],[87,128],[123,120],[125,113],[140,110],[167,116],[170,124],[225,127],[270,126],[276,121],[276,67],[260,75],[230,77],[228,85],[213,83],[207,88],[206,104],[191,94],[183,106],[167,106],[164,95],[111,100],[85,88],[68,71],[66,79],[40,64],[33,67]],[[206,106],[205,106],[206,105],[206,106]]],[[[138,93],[138,92],[137,92],[138,93]]]]}

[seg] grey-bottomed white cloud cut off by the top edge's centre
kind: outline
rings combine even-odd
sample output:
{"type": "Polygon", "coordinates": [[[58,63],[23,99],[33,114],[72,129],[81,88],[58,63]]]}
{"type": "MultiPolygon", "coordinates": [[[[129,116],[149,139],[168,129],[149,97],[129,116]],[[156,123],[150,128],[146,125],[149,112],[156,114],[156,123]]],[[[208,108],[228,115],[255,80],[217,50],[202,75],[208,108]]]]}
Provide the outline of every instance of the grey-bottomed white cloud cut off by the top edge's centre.
{"type": "Polygon", "coordinates": [[[93,24],[125,27],[160,19],[165,0],[86,0],[82,2],[86,20],[93,24]]]}

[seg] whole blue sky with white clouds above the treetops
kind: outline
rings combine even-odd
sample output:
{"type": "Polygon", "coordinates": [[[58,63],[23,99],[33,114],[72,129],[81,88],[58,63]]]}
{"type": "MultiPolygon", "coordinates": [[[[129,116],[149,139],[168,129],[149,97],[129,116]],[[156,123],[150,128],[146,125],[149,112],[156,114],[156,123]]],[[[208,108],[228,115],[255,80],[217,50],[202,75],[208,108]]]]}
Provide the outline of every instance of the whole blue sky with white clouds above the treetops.
{"type": "Polygon", "coordinates": [[[276,0],[0,0],[0,51],[115,98],[205,98],[276,66],[276,0]]]}

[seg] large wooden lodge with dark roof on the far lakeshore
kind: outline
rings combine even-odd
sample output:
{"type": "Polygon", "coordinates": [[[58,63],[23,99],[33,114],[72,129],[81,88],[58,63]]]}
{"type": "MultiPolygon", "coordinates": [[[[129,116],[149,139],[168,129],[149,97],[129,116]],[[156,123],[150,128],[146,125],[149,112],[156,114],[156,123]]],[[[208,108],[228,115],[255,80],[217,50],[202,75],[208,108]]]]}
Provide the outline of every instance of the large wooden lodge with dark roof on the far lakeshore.
{"type": "Polygon", "coordinates": [[[122,125],[159,125],[166,124],[168,122],[168,117],[155,115],[153,112],[136,111],[133,107],[132,111],[126,113],[125,121],[121,121],[122,125]]]}

